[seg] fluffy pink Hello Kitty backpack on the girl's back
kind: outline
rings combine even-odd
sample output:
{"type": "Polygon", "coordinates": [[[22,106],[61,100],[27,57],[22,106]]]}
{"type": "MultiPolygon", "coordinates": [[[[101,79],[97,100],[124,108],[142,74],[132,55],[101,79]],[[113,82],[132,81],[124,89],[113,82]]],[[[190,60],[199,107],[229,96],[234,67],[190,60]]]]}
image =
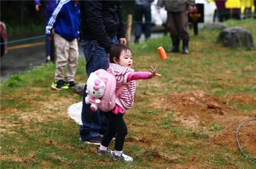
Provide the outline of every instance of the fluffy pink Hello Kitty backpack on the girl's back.
{"type": "Polygon", "coordinates": [[[115,107],[116,97],[125,86],[123,85],[115,93],[115,76],[104,69],[96,70],[90,74],[87,80],[86,104],[91,104],[92,111],[96,111],[98,108],[105,112],[110,111],[115,107]]]}

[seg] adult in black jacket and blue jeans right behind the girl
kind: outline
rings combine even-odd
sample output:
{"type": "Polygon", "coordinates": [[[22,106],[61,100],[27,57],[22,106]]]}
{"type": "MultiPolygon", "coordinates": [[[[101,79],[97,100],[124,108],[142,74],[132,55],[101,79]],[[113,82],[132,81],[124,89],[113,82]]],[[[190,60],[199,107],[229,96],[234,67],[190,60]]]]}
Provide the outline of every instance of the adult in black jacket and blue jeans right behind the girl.
{"type": "MultiPolygon", "coordinates": [[[[86,59],[87,77],[98,70],[108,69],[110,48],[117,43],[126,45],[121,1],[80,1],[81,47],[86,59]]],[[[83,100],[87,96],[83,89],[83,100]]],[[[82,102],[80,140],[100,145],[108,119],[105,112],[92,111],[90,104],[82,102]]]]}

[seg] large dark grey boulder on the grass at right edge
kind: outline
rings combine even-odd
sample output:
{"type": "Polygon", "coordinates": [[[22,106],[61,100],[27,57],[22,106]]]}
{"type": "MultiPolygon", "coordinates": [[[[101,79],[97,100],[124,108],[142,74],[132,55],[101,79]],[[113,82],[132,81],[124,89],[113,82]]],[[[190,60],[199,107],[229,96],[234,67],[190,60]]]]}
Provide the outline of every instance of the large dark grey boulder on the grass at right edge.
{"type": "Polygon", "coordinates": [[[243,27],[239,26],[222,30],[217,42],[222,43],[226,47],[243,47],[254,50],[252,35],[243,29],[243,27]]]}

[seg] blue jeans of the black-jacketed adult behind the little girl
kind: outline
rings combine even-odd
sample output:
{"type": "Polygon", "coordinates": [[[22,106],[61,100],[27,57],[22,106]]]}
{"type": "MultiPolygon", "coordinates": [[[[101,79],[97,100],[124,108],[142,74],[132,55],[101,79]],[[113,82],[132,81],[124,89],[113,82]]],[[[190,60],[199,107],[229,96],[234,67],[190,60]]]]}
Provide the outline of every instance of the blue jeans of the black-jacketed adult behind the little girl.
{"type": "MultiPolygon", "coordinates": [[[[118,43],[117,37],[113,38],[113,43],[118,43]]],[[[108,69],[109,56],[96,40],[82,40],[81,47],[84,58],[86,59],[87,77],[98,69],[108,69]]],[[[80,126],[80,137],[82,141],[98,136],[99,132],[104,134],[109,122],[104,116],[105,112],[101,110],[92,111],[90,104],[85,103],[84,98],[87,96],[86,90],[87,87],[84,86],[81,113],[82,125],[80,126]]]]}

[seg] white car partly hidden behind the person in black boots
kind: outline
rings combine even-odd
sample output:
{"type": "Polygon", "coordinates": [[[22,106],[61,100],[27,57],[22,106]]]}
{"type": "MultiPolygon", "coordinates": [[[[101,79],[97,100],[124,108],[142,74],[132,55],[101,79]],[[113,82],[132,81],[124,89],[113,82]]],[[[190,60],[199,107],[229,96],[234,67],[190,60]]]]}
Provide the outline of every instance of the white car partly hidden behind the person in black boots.
{"type": "MultiPolygon", "coordinates": [[[[157,15],[157,1],[155,0],[151,4],[151,17],[152,17],[152,24],[155,24],[155,18],[157,15]]],[[[213,0],[196,0],[196,4],[204,4],[204,23],[212,23],[217,20],[217,12],[218,8],[213,0]]],[[[163,24],[166,23],[167,20],[167,11],[165,8],[160,9],[160,16],[163,21],[163,24]]]]}

